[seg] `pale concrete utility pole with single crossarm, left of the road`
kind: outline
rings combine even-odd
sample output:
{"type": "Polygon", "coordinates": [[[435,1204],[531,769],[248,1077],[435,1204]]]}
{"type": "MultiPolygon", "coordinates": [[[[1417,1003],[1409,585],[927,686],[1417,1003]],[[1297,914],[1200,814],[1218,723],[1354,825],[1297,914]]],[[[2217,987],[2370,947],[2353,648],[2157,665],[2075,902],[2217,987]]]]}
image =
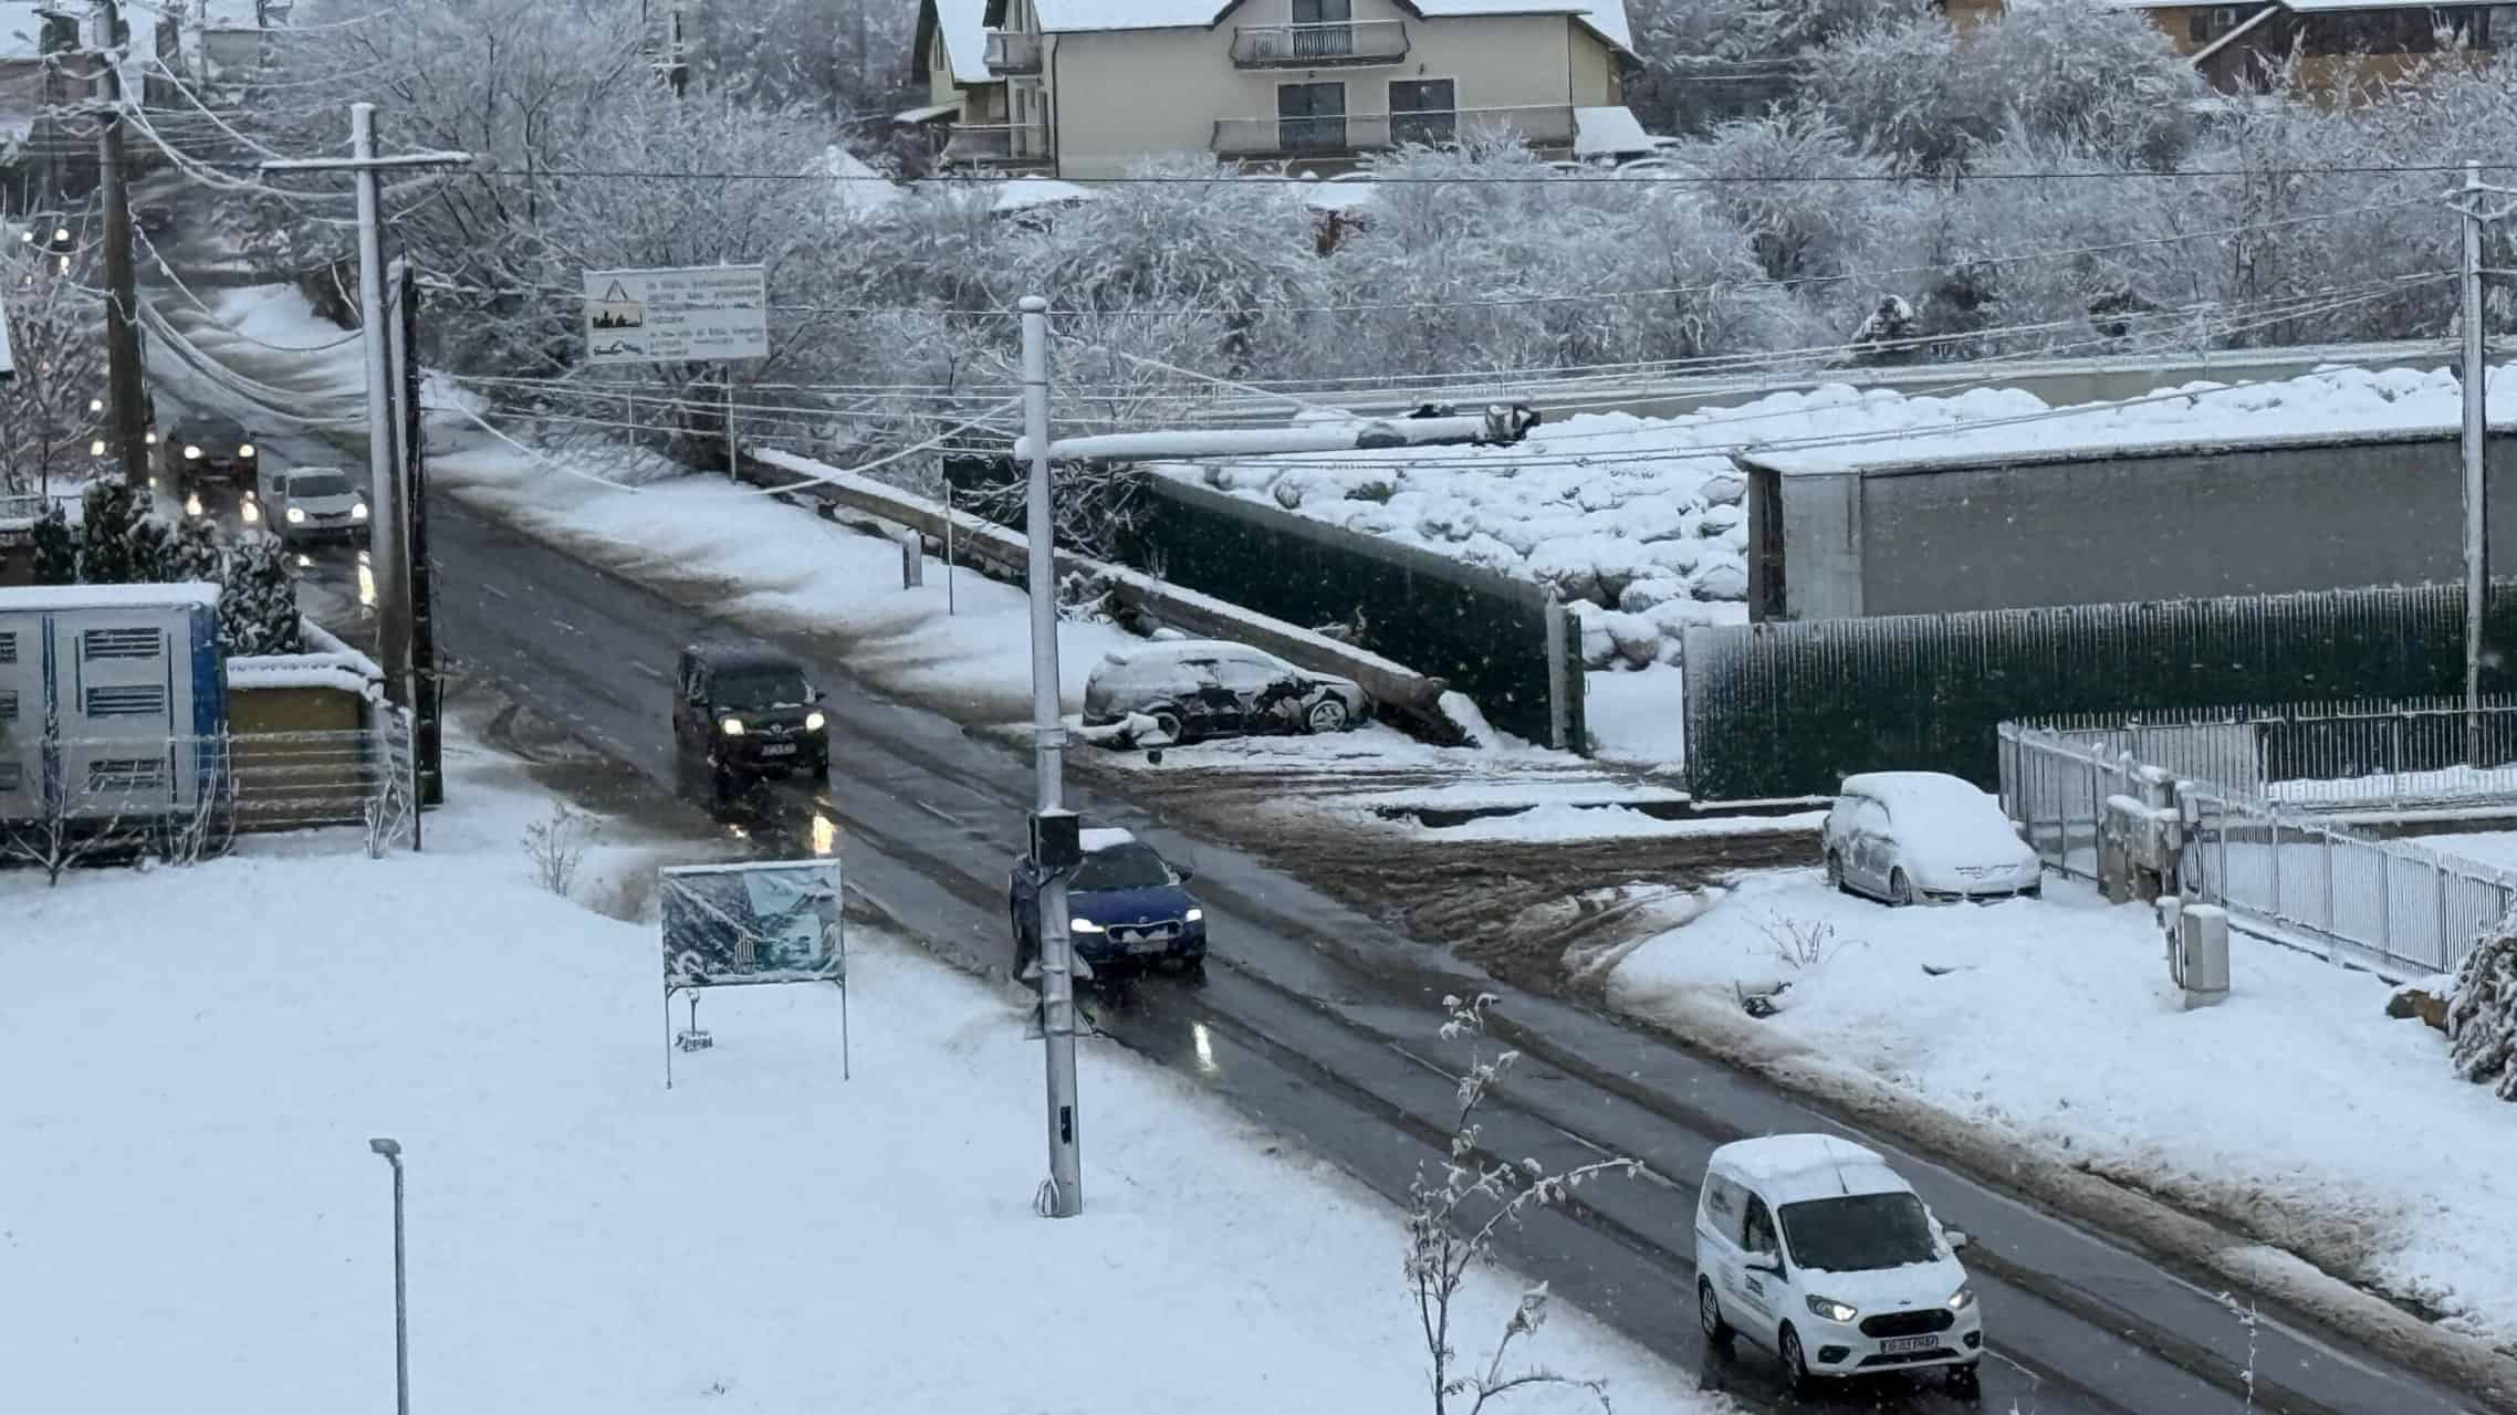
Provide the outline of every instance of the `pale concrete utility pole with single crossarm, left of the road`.
{"type": "MultiPolygon", "coordinates": [[[[357,317],[367,347],[367,476],[375,519],[367,521],[367,561],[375,572],[375,647],[385,667],[385,697],[418,725],[420,680],[413,655],[410,488],[403,481],[400,433],[393,420],[393,330],[385,322],[385,222],[378,174],[388,169],[471,166],[471,154],[425,151],[375,156],[375,103],[350,103],[347,159],[264,161],[262,171],[347,171],[357,179],[357,317]]],[[[413,846],[423,801],[420,753],[410,753],[413,846]]]]}

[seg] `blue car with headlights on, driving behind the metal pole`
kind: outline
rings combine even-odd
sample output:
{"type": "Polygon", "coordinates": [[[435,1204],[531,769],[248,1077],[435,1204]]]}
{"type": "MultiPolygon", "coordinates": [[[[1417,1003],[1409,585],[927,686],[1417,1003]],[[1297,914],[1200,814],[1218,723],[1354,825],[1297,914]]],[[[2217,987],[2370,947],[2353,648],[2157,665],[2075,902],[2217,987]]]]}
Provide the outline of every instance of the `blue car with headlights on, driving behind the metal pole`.
{"type": "MultiPolygon", "coordinates": [[[[1188,871],[1128,831],[1085,831],[1082,851],[1067,879],[1067,934],[1092,972],[1128,962],[1206,967],[1206,909],[1188,894],[1188,871]]],[[[1007,906],[1022,977],[1040,957],[1040,874],[1029,856],[1014,866],[1007,906]]]]}

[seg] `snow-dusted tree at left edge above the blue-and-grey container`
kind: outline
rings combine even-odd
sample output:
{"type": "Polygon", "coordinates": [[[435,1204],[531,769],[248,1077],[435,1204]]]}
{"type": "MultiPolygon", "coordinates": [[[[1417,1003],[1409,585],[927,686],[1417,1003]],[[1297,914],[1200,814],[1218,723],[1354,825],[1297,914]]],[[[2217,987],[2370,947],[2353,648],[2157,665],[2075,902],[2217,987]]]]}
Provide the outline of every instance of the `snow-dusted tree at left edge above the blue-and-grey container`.
{"type": "Polygon", "coordinates": [[[48,496],[93,466],[88,403],[106,388],[101,307],[76,277],[60,274],[50,252],[23,242],[0,254],[0,282],[18,365],[0,383],[0,493],[48,496]]]}

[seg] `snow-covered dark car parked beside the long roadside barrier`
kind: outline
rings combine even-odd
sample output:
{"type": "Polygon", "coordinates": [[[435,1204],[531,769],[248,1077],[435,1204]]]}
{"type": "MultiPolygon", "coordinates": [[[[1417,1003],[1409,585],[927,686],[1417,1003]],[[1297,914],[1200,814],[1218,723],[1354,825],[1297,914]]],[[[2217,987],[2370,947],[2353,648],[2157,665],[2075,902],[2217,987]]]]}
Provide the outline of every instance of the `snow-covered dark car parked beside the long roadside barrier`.
{"type": "Polygon", "coordinates": [[[1153,640],[1110,652],[1085,680],[1085,728],[1150,718],[1173,743],[1243,733],[1344,733],[1372,720],[1347,677],[1299,670],[1226,640],[1153,640]]]}

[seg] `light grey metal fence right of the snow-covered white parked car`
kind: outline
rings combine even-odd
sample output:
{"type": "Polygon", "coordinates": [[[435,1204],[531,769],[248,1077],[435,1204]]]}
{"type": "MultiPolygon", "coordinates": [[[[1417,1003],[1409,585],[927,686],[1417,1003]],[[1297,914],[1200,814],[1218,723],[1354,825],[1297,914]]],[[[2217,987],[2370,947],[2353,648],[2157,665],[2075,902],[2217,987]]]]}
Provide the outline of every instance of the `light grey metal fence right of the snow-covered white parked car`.
{"type": "Polygon", "coordinates": [[[2117,748],[2097,733],[2074,738],[2001,725],[2001,806],[2046,866],[2097,879],[2107,798],[2134,796],[2139,768],[2157,765],[2190,778],[2177,786],[2185,813],[2180,889],[2228,909],[2250,934],[2411,979],[2454,972],[2482,932],[2517,906],[2512,874],[2409,841],[2361,836],[2117,748]]]}

